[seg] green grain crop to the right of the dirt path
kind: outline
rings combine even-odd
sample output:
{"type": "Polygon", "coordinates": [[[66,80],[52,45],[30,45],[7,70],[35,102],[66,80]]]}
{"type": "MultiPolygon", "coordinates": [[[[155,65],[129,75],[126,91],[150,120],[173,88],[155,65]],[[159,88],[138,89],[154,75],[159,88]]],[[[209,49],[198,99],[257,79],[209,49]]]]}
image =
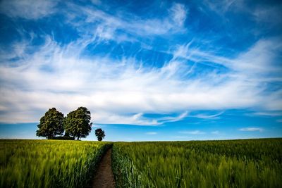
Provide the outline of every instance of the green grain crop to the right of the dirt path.
{"type": "Polygon", "coordinates": [[[117,187],[282,187],[282,139],[113,146],[117,187]]]}

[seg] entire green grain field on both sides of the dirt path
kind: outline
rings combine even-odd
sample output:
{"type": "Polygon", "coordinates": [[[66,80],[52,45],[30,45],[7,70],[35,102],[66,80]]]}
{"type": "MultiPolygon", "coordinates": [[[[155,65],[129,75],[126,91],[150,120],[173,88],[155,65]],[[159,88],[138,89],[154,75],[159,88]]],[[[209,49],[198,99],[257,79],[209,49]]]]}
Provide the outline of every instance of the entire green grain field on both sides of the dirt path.
{"type": "MultiPolygon", "coordinates": [[[[0,187],[84,187],[110,142],[0,140],[0,187]]],[[[115,142],[116,187],[282,187],[282,139],[115,142]]]]}

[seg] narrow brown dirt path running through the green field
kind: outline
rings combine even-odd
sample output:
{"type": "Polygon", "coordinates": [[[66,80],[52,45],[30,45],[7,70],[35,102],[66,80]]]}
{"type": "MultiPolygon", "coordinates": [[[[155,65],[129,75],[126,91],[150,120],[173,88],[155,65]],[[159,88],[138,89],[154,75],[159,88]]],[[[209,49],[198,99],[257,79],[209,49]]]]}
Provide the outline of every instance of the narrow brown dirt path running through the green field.
{"type": "Polygon", "coordinates": [[[111,170],[111,149],[106,151],[101,163],[98,166],[97,173],[94,177],[94,188],[114,188],[115,181],[113,170],[111,170]]]}

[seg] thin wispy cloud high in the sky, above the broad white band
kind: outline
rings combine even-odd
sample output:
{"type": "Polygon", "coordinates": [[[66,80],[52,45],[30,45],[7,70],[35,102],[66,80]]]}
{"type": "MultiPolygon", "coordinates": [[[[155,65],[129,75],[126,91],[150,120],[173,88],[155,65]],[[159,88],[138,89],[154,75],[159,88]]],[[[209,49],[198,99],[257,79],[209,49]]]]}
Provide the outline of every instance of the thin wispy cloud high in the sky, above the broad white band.
{"type": "Polygon", "coordinates": [[[140,18],[130,13],[116,13],[111,15],[101,9],[78,6],[68,3],[68,22],[82,35],[92,35],[102,40],[135,41],[136,37],[150,37],[152,35],[173,35],[184,29],[187,11],[182,4],[173,4],[164,13],[164,18],[140,18]],[[86,16],[86,19],[85,19],[86,16]],[[79,21],[78,21],[79,20],[79,21]],[[118,30],[123,35],[117,34],[118,30]]]}

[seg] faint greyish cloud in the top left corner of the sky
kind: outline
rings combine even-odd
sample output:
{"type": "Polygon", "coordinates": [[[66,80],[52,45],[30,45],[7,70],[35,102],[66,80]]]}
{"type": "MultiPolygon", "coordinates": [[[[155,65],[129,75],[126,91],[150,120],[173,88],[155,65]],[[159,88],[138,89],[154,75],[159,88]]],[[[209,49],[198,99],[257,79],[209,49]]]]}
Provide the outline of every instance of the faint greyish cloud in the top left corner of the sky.
{"type": "Polygon", "coordinates": [[[36,20],[55,13],[56,4],[54,0],[4,0],[0,2],[0,11],[10,17],[36,20]]]}

